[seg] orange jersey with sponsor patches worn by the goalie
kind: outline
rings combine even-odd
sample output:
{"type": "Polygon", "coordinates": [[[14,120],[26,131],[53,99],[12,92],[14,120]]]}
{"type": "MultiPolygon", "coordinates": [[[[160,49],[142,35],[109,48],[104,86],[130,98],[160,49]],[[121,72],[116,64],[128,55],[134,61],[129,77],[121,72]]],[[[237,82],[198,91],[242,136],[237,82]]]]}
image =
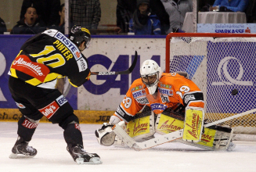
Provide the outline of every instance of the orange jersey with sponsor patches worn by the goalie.
{"type": "Polygon", "coordinates": [[[114,116],[128,123],[145,105],[149,106],[153,113],[158,114],[178,103],[183,106],[204,108],[203,92],[193,81],[178,73],[162,73],[157,85],[157,93],[153,95],[150,95],[141,78],[135,80],[117,107],[114,116]]]}

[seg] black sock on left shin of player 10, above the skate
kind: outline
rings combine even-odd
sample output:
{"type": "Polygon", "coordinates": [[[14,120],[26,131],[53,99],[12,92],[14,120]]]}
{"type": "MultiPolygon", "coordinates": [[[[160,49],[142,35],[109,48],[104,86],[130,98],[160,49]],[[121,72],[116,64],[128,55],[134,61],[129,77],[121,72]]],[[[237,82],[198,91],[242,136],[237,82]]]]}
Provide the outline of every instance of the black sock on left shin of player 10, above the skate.
{"type": "Polygon", "coordinates": [[[39,120],[32,120],[27,116],[21,116],[18,121],[18,135],[25,142],[30,142],[35,129],[38,127],[39,120]]]}

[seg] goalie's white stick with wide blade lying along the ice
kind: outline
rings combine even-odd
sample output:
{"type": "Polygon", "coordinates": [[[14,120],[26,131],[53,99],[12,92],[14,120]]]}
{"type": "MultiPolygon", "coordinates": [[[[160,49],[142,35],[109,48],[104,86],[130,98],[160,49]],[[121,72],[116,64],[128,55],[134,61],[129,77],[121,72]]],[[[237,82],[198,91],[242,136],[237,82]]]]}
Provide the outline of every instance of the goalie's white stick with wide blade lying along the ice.
{"type": "MultiPolygon", "coordinates": [[[[251,109],[251,110],[248,110],[246,112],[236,114],[234,116],[229,116],[229,117],[224,118],[222,120],[216,120],[215,122],[205,124],[204,127],[210,127],[212,125],[220,124],[220,123],[223,123],[227,120],[232,120],[234,118],[244,116],[244,115],[248,115],[250,113],[255,113],[255,112],[256,112],[256,109],[251,109]]],[[[135,140],[133,140],[133,138],[131,138],[121,128],[121,126],[120,126],[120,125],[122,125],[121,123],[124,123],[124,121],[121,121],[119,124],[116,124],[114,126],[114,129],[113,129],[114,133],[117,134],[117,137],[120,138],[124,142],[124,144],[128,145],[130,148],[133,148],[137,151],[141,151],[141,150],[144,150],[144,149],[149,149],[149,148],[155,147],[157,145],[161,145],[161,144],[164,144],[164,143],[167,143],[167,142],[175,141],[179,138],[182,138],[182,134],[183,134],[183,129],[181,129],[179,131],[174,131],[174,132],[171,132],[169,134],[160,135],[157,138],[153,138],[153,139],[150,139],[150,140],[145,141],[145,142],[135,142],[135,140]]]]}

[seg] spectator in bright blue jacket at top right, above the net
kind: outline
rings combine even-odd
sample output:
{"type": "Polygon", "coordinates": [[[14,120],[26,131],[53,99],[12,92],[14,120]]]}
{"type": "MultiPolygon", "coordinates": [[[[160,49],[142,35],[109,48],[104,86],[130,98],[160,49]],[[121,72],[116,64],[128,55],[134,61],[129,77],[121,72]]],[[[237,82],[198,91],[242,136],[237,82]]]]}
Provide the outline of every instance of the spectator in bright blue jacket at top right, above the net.
{"type": "Polygon", "coordinates": [[[249,0],[215,0],[210,11],[217,10],[223,12],[244,12],[249,0]]]}

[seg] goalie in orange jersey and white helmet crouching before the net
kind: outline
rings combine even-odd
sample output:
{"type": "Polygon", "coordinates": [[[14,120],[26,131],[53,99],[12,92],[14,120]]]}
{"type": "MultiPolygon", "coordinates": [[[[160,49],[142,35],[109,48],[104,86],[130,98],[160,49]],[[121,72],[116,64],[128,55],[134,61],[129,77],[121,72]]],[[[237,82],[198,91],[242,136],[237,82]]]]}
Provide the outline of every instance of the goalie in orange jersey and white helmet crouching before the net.
{"type": "Polygon", "coordinates": [[[207,150],[233,150],[230,127],[204,127],[204,96],[186,73],[162,73],[160,66],[149,59],[142,63],[141,77],[127,91],[108,124],[96,130],[100,145],[124,145],[114,133],[121,124],[135,142],[182,130],[177,142],[207,150]],[[123,121],[123,122],[121,122],[123,121]]]}

